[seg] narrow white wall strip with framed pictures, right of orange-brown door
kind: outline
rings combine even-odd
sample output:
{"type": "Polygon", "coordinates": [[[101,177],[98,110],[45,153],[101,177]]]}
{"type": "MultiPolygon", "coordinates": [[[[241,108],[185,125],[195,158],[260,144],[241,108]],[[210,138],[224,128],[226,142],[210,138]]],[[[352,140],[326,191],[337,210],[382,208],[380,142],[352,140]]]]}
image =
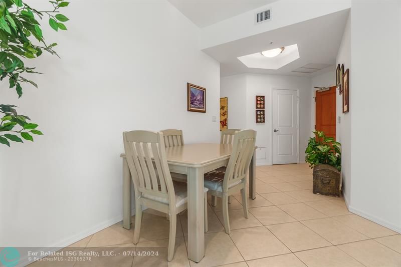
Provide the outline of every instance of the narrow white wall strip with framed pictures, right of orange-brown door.
{"type": "MultiPolygon", "coordinates": [[[[351,12],[348,15],[345,24],[344,34],[342,36],[340,48],[336,57],[336,65],[344,64],[344,72],[351,68],[351,12]]],[[[337,68],[337,67],[336,67],[337,68]]],[[[350,81],[352,75],[350,75],[350,81]]],[[[350,88],[349,98],[352,99],[353,89],[350,88]]],[[[340,123],[336,124],[336,139],[341,143],[341,175],[342,175],[342,192],[346,203],[351,202],[351,114],[353,112],[352,104],[350,104],[349,112],[342,113],[342,95],[336,92],[337,116],[340,116],[340,123]]]]}

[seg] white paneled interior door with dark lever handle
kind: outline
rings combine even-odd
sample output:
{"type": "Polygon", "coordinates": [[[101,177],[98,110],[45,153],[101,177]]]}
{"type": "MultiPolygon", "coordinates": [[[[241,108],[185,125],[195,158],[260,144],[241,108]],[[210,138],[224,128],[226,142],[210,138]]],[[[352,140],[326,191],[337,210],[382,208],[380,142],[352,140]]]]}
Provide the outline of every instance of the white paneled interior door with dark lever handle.
{"type": "Polygon", "coordinates": [[[273,89],[273,164],[298,162],[297,90],[273,89]]]}

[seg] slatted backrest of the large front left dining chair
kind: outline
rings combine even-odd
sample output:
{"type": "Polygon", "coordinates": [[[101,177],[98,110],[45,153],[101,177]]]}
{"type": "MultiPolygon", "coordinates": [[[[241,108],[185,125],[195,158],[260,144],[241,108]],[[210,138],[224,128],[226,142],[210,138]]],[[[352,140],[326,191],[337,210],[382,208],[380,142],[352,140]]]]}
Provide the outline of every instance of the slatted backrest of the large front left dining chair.
{"type": "Polygon", "coordinates": [[[161,132],[123,133],[125,155],[134,182],[135,197],[149,194],[175,206],[175,193],[161,132]]]}

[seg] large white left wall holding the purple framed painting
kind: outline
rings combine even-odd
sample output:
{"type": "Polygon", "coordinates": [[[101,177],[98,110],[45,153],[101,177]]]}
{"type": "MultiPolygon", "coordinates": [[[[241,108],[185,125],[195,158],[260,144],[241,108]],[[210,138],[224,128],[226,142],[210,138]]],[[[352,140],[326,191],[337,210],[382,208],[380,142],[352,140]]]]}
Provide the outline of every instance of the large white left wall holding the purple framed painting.
{"type": "Polygon", "coordinates": [[[186,143],[219,141],[219,63],[171,4],[73,1],[65,15],[68,32],[43,22],[62,59],[32,60],[45,73],[34,77],[39,89],[26,85],[18,100],[1,83],[2,103],[45,135],[0,148],[0,246],[65,246],[121,220],[123,131],[178,128],[186,143]],[[186,82],[207,88],[206,114],[186,111],[186,82]]]}

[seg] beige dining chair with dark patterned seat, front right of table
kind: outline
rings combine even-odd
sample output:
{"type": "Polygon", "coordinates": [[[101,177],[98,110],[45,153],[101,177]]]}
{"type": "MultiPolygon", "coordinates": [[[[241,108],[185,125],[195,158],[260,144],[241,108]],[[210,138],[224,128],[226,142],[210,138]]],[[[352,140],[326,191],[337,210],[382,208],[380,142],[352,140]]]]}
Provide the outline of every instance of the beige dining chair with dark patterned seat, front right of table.
{"type": "Polygon", "coordinates": [[[230,160],[221,168],[205,174],[205,187],[212,196],[222,198],[223,219],[226,233],[230,234],[228,197],[241,191],[244,216],[248,218],[247,171],[255,149],[256,131],[242,130],[234,135],[230,160]]]}

